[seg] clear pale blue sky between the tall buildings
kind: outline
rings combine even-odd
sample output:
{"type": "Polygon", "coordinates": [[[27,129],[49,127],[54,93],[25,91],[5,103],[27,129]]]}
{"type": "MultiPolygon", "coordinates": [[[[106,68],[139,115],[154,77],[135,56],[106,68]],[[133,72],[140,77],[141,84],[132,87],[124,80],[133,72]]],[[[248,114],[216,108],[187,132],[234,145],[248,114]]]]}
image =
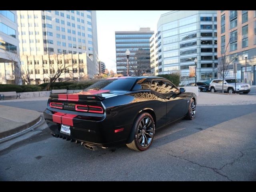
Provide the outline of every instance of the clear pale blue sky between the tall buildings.
{"type": "Polygon", "coordinates": [[[140,27],[150,27],[156,32],[161,14],[169,11],[96,11],[98,32],[98,57],[106,68],[116,72],[115,31],[138,31],[140,27]]]}

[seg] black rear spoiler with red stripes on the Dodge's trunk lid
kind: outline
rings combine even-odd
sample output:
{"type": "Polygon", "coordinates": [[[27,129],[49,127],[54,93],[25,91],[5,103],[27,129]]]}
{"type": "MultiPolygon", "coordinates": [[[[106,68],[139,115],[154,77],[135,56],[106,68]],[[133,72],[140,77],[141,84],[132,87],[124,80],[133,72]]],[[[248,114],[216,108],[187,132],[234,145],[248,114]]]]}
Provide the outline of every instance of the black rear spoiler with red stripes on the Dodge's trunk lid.
{"type": "Polygon", "coordinates": [[[97,95],[84,95],[84,94],[50,94],[50,100],[59,101],[78,101],[78,100],[104,100],[105,97],[97,95]]]}

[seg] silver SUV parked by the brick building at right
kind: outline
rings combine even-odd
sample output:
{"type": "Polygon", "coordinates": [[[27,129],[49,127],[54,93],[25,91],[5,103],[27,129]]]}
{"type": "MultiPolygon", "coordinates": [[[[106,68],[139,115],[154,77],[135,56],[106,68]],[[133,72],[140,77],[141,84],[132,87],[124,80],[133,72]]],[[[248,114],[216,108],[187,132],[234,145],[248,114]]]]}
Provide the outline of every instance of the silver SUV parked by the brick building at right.
{"type": "MultiPolygon", "coordinates": [[[[236,80],[236,87],[235,87],[235,79],[225,79],[224,80],[224,91],[228,93],[236,92],[243,92],[245,94],[249,93],[251,90],[250,84],[241,83],[240,81],[236,80]]],[[[209,86],[210,92],[222,91],[222,79],[214,79],[210,82],[209,86]]]]}

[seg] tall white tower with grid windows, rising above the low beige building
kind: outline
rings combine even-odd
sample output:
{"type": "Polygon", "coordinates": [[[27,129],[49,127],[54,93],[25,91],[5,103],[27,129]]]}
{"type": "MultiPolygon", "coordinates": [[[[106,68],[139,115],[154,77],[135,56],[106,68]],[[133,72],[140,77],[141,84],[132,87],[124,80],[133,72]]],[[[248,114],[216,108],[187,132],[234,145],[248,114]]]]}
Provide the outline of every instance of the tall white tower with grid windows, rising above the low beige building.
{"type": "Polygon", "coordinates": [[[88,75],[98,73],[96,11],[18,10],[17,14],[21,56],[86,52],[94,63],[88,75]]]}

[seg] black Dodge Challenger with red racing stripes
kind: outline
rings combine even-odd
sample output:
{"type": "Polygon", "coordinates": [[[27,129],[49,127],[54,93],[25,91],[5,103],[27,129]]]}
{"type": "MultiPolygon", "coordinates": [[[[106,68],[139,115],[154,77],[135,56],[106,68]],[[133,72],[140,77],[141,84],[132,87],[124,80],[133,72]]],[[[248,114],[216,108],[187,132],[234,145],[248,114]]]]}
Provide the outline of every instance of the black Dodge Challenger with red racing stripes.
{"type": "Polygon", "coordinates": [[[152,144],[155,129],[194,119],[197,98],[165,78],[108,78],[78,93],[51,94],[44,118],[52,136],[95,150],[125,143],[138,151],[152,144]]]}

